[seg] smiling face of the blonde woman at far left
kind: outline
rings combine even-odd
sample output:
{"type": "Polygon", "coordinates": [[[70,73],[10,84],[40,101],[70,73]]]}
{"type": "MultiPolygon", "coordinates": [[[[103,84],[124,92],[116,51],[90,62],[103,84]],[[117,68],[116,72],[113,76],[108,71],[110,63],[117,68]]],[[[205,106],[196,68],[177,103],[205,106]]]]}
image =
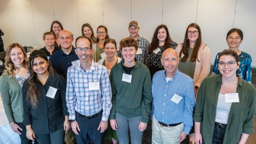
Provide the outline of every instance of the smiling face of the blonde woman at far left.
{"type": "Polygon", "coordinates": [[[11,61],[15,66],[23,64],[24,53],[22,52],[21,48],[14,47],[11,49],[11,61]]]}

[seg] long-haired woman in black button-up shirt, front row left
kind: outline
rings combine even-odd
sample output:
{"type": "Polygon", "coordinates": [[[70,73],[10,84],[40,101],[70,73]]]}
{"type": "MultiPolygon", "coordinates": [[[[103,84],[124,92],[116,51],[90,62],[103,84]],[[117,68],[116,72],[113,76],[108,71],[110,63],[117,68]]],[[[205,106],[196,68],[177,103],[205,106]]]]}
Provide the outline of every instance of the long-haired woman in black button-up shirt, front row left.
{"type": "Polygon", "coordinates": [[[39,144],[64,144],[70,128],[66,105],[66,81],[57,74],[47,56],[34,50],[29,57],[30,77],[22,87],[27,138],[39,144]]]}

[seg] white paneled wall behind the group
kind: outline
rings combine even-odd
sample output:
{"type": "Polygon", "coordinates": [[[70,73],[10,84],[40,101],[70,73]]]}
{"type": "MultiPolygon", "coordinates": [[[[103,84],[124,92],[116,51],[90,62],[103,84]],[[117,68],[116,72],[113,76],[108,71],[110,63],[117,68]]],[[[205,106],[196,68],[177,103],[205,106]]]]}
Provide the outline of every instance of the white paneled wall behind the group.
{"type": "Polygon", "coordinates": [[[90,23],[95,33],[105,25],[117,43],[129,36],[131,20],[139,22],[139,34],[149,42],[158,25],[167,25],[176,43],[183,41],[187,25],[196,22],[203,42],[211,48],[213,63],[215,55],[228,48],[226,33],[237,27],[244,32],[240,49],[251,54],[256,66],[255,5],[256,0],[0,0],[0,28],[5,49],[11,43],[40,48],[43,32],[54,20],[75,38],[84,23],[90,23]]]}

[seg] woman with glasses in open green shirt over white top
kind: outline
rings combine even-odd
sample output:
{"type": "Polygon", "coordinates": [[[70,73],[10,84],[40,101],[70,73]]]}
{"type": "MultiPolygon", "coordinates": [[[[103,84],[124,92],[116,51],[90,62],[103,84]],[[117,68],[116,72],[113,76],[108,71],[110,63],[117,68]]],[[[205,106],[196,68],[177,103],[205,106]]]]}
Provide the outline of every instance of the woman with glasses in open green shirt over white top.
{"type": "Polygon", "coordinates": [[[253,133],[256,89],[238,75],[237,53],[219,54],[220,75],[203,80],[194,113],[196,144],[245,144],[253,133]]]}

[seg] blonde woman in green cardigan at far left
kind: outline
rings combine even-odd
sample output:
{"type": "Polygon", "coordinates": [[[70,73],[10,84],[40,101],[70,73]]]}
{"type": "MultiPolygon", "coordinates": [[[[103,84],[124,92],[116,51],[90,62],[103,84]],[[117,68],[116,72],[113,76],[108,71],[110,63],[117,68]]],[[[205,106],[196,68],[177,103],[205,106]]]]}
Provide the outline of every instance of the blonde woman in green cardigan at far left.
{"type": "Polygon", "coordinates": [[[5,70],[0,78],[0,93],[7,119],[12,130],[20,135],[21,144],[32,144],[26,137],[26,127],[22,123],[21,87],[28,77],[27,53],[19,43],[12,43],[6,50],[5,70]]]}

